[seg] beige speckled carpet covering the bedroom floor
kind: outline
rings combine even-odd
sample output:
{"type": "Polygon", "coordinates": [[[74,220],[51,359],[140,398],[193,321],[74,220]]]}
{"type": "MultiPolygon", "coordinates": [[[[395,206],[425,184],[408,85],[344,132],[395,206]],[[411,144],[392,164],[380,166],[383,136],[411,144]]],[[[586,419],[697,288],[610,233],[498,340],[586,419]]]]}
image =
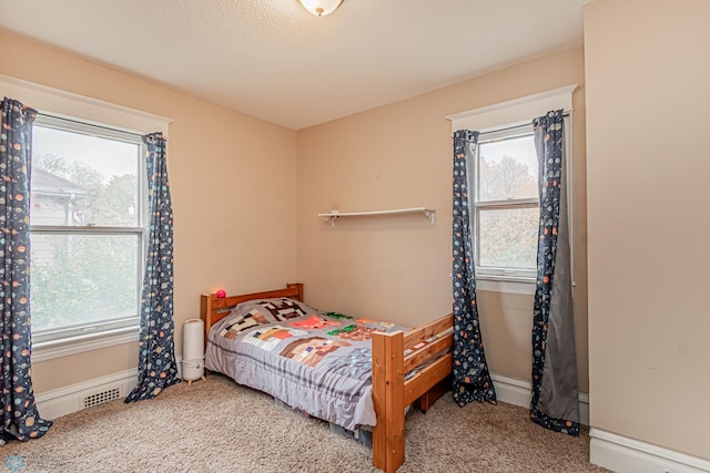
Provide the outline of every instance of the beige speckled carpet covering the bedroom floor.
{"type": "MultiPolygon", "coordinates": [[[[524,408],[458,408],[450,393],[407,418],[399,473],[604,472],[589,436],[547,431],[524,408]]],[[[377,472],[369,449],[266,394],[211,374],[156,399],[115,400],[57,419],[40,440],[0,448],[0,471],[377,472]],[[14,470],[13,470],[14,469],[14,470]]]]}

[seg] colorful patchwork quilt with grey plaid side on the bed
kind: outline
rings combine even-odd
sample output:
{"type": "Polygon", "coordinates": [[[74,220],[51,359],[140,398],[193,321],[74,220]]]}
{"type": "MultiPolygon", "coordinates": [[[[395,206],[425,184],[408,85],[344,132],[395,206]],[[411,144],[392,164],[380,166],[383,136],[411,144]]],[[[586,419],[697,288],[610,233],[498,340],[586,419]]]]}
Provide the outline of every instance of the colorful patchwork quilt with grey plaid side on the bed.
{"type": "Polygon", "coordinates": [[[355,430],[375,425],[372,333],[396,330],[287,298],[246,301],[211,328],[205,367],[355,430]]]}

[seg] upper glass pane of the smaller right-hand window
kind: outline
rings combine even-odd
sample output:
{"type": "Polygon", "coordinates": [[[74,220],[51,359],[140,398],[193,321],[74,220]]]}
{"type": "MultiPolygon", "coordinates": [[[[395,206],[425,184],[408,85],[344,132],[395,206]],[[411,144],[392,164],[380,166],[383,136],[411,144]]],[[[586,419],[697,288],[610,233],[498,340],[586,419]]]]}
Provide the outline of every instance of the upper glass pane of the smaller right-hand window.
{"type": "Polygon", "coordinates": [[[531,135],[483,142],[479,153],[479,202],[538,196],[537,155],[531,135]]]}

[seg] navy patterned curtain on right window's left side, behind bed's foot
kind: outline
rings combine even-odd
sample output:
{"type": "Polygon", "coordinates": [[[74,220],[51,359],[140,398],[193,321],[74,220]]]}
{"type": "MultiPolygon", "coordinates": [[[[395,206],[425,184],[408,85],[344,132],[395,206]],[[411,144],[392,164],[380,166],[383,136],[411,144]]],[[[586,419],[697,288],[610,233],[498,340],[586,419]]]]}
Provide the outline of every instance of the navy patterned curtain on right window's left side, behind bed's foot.
{"type": "Polygon", "coordinates": [[[470,233],[466,163],[474,160],[478,132],[454,134],[454,400],[460,407],[476,400],[496,403],[476,307],[476,278],[470,233]]]}

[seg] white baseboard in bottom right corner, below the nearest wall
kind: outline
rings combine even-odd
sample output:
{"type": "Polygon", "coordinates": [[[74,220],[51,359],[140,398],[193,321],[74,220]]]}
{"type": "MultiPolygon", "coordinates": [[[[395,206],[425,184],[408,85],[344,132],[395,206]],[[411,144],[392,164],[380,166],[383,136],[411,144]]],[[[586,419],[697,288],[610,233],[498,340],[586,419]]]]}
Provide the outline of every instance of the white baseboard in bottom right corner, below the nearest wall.
{"type": "Polygon", "coordinates": [[[621,473],[708,473],[710,462],[599,429],[589,431],[591,463],[621,473]]]}

